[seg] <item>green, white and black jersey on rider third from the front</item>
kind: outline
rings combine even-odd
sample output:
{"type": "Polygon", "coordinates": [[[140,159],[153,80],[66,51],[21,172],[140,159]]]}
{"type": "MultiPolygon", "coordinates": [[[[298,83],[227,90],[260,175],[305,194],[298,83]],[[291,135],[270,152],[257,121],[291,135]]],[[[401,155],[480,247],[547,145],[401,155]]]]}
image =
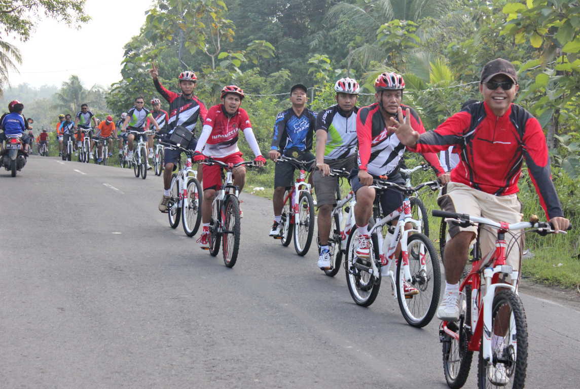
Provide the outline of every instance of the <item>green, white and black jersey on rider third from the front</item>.
{"type": "Polygon", "coordinates": [[[316,130],[328,133],[324,159],[343,159],[353,155],[357,148],[357,111],[345,112],[338,104],[318,112],[316,130]]]}

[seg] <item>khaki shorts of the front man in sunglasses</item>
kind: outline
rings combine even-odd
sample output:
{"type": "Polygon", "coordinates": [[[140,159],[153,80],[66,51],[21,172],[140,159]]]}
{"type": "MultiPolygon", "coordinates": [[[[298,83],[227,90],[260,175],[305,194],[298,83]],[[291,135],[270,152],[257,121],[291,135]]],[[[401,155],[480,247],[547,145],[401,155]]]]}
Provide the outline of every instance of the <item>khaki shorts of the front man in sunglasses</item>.
{"type": "MultiPolygon", "coordinates": [[[[467,215],[487,217],[494,221],[505,221],[506,223],[519,223],[521,215],[521,203],[516,194],[506,196],[495,196],[465,184],[448,183],[446,191],[437,198],[437,204],[447,212],[466,213],[467,215]]],[[[449,223],[449,235],[453,238],[460,231],[472,231],[477,235],[477,227],[460,227],[449,223]]],[[[481,257],[487,256],[491,250],[495,250],[495,240],[497,238],[496,228],[490,226],[481,227],[480,250],[481,257]]],[[[513,267],[513,270],[520,270],[520,251],[523,249],[523,239],[519,239],[519,245],[514,242],[511,235],[506,234],[505,239],[509,252],[506,252],[506,263],[513,267]]]]}

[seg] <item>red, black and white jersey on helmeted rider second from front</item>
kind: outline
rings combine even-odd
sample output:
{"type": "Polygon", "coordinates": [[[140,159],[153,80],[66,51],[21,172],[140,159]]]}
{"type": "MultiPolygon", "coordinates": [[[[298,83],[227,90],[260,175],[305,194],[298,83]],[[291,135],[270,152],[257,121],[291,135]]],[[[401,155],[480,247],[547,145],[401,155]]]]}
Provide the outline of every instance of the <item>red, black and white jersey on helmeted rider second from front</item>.
{"type": "MultiPolygon", "coordinates": [[[[419,133],[425,133],[419,115],[411,107],[401,104],[401,108],[403,115],[406,115],[405,110],[409,108],[412,128],[419,133]]],[[[378,103],[358,110],[357,138],[359,169],[367,170],[374,176],[389,176],[397,172],[405,146],[398,140],[396,134],[389,133],[387,130],[378,103]]],[[[433,152],[422,152],[422,154],[437,176],[445,173],[436,154],[433,152]]]]}

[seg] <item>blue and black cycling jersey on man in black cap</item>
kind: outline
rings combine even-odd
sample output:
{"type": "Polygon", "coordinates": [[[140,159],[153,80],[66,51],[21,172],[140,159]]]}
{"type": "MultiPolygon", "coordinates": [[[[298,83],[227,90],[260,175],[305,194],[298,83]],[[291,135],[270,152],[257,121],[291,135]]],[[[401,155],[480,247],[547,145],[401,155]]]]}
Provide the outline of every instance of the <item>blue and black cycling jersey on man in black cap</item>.
{"type": "Polygon", "coordinates": [[[311,150],[315,125],[316,112],[308,108],[300,116],[292,108],[280,112],[274,123],[271,149],[283,151],[295,147],[300,151],[311,150]]]}

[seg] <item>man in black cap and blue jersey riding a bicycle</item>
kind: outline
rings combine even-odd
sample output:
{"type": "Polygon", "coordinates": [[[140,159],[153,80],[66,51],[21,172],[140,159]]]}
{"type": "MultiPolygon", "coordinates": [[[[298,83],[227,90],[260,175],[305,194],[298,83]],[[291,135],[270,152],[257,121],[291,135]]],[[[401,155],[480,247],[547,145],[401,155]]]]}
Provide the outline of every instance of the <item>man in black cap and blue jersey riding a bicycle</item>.
{"type": "MultiPolygon", "coordinates": [[[[306,108],[308,101],[306,86],[298,83],[290,89],[292,107],[280,112],[274,123],[274,136],[268,157],[276,162],[274,170],[274,225],[270,236],[280,236],[280,220],[284,206],[284,192],[292,186],[294,166],[289,162],[277,161],[280,155],[299,159],[300,161],[314,161],[312,139],[316,112],[306,108]]],[[[314,162],[313,162],[314,164],[314,162]]]]}

